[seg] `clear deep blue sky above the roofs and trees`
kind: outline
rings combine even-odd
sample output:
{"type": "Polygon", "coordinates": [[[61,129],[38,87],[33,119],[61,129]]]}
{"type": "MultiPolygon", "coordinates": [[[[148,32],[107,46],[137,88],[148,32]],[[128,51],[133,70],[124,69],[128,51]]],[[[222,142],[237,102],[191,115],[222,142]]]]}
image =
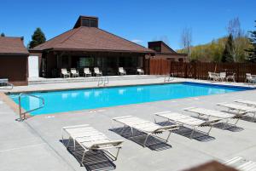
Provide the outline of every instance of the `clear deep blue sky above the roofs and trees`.
{"type": "Polygon", "coordinates": [[[255,0],[1,0],[0,32],[31,40],[36,27],[46,38],[73,28],[80,14],[98,16],[99,26],[147,46],[165,40],[181,48],[184,27],[193,45],[224,37],[229,20],[239,17],[244,31],[254,29],[255,0]]]}

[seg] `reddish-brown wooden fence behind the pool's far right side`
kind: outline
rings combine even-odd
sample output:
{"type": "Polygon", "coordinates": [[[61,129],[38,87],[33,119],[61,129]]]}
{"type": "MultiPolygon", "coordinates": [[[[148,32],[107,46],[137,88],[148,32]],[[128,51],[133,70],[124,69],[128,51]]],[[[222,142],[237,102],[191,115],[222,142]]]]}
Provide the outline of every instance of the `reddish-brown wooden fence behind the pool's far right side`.
{"type": "Polygon", "coordinates": [[[236,73],[236,82],[244,82],[246,73],[256,75],[256,64],[253,63],[207,63],[207,62],[174,62],[165,59],[150,59],[148,74],[166,75],[173,73],[175,77],[195,78],[206,80],[208,71],[226,72],[227,75],[236,73]]]}

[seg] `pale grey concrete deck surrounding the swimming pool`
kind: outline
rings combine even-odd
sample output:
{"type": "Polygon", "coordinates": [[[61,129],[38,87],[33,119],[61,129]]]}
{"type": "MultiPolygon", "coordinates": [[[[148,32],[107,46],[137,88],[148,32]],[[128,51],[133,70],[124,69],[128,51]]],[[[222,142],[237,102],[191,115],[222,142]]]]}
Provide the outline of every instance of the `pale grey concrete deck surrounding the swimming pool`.
{"type": "MultiPolygon", "coordinates": [[[[175,79],[180,82],[184,79],[175,79]]],[[[134,81],[134,80],[133,80],[134,81]]],[[[190,80],[189,80],[190,81],[190,80]]],[[[131,81],[113,81],[111,85],[125,85],[131,81]]],[[[205,82],[205,81],[197,81],[205,82]]],[[[137,80],[134,84],[163,83],[163,77],[155,79],[137,80]]],[[[96,87],[96,83],[56,83],[49,86],[31,85],[16,87],[14,91],[49,88],[68,88],[73,86],[96,87]],[[79,84],[79,85],[78,85],[79,84]]],[[[233,84],[233,83],[225,83],[233,84]]],[[[236,83],[236,85],[243,85],[236,83]]],[[[1,98],[1,97],[0,97],[1,98]]],[[[236,132],[212,128],[211,137],[203,141],[189,140],[180,134],[171,134],[169,145],[159,151],[138,145],[132,140],[125,139],[119,134],[109,130],[111,118],[132,115],[153,120],[153,113],[160,111],[183,111],[190,106],[201,106],[209,109],[223,110],[215,104],[232,102],[237,99],[256,100],[256,90],[241,91],[229,94],[216,94],[196,98],[179,100],[165,100],[137,105],[122,105],[102,108],[98,110],[73,111],[65,114],[41,115],[28,118],[20,123],[15,121],[16,114],[3,100],[0,99],[0,170],[86,170],[80,167],[79,162],[67,151],[61,143],[61,128],[69,125],[90,124],[102,131],[113,140],[124,140],[124,147],[120,150],[119,158],[113,163],[115,170],[159,170],[176,171],[189,168],[210,160],[223,162],[231,157],[245,157],[256,161],[256,123],[241,120],[236,132]]],[[[234,121],[231,121],[234,122],[234,121]]],[[[202,128],[204,130],[205,128],[202,128]]],[[[163,134],[165,136],[166,134],[163,134]]],[[[90,166],[90,168],[111,168],[112,162],[90,166]]],[[[108,170],[108,169],[107,169],[108,170]]]]}

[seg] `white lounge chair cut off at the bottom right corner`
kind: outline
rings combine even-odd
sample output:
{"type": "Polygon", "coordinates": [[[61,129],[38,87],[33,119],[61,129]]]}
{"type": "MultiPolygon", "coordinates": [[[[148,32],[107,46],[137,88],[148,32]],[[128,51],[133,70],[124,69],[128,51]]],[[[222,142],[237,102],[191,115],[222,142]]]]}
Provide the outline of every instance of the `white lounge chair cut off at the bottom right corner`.
{"type": "Polygon", "coordinates": [[[225,165],[236,168],[240,171],[255,171],[256,162],[249,161],[242,157],[234,157],[224,162],[225,165]]]}

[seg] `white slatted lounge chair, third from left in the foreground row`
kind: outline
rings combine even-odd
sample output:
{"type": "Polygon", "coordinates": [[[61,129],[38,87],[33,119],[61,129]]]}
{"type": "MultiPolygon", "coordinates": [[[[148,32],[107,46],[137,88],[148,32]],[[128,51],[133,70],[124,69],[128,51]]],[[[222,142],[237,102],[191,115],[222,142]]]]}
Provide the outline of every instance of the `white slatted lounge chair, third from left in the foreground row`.
{"type": "MultiPolygon", "coordinates": [[[[197,130],[197,128],[200,127],[210,127],[208,132],[206,133],[207,135],[210,134],[212,130],[212,126],[220,121],[220,119],[213,119],[209,121],[203,121],[201,119],[195,118],[195,117],[190,117],[186,116],[180,113],[173,113],[171,111],[163,111],[163,112],[158,112],[154,113],[154,116],[157,117],[163,117],[168,120],[170,123],[175,123],[179,125],[186,125],[189,126],[193,129],[192,133],[189,136],[189,139],[193,139],[193,134],[197,130]]],[[[156,123],[156,121],[154,120],[156,123]]]]}

